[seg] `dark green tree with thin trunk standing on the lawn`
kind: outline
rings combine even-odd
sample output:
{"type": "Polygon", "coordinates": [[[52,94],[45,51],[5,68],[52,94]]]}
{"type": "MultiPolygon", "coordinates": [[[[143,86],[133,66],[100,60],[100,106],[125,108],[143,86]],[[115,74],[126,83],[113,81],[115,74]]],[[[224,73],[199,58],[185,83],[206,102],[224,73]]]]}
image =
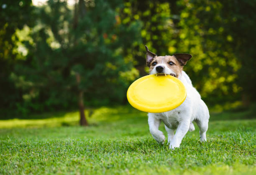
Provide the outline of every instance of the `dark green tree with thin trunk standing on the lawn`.
{"type": "Polygon", "coordinates": [[[120,23],[115,11],[120,5],[113,0],[79,0],[71,10],[66,2],[49,0],[38,8],[33,43],[24,41],[28,56],[15,71],[29,103],[38,104],[33,106],[36,110],[78,101],[80,124],[87,125],[84,94],[91,104],[123,100],[124,86],[138,74],[123,55],[138,41],[140,23],[120,23]],[[42,101],[46,107],[40,106],[42,101]]]}

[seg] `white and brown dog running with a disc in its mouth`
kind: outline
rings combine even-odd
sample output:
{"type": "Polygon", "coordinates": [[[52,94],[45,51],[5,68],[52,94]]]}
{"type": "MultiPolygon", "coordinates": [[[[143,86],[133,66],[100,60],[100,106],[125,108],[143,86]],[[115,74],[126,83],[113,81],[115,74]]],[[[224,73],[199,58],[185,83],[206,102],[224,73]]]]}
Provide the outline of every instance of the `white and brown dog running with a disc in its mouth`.
{"type": "MultiPolygon", "coordinates": [[[[165,137],[159,130],[161,121],[168,134],[168,144],[170,149],[178,148],[183,137],[188,131],[194,131],[193,121],[197,123],[200,129],[200,141],[206,141],[206,132],[210,118],[209,110],[200,94],[192,86],[189,76],[183,71],[184,65],[192,58],[187,53],[177,53],[173,56],[157,56],[146,48],[146,64],[149,67],[149,74],[171,75],[178,78],[187,89],[187,97],[177,108],[162,112],[148,113],[149,131],[154,139],[163,144],[165,137]],[[175,134],[174,131],[176,130],[175,134]]],[[[154,91],[154,89],[152,89],[154,91]]],[[[172,93],[170,89],[169,93],[172,93]]]]}

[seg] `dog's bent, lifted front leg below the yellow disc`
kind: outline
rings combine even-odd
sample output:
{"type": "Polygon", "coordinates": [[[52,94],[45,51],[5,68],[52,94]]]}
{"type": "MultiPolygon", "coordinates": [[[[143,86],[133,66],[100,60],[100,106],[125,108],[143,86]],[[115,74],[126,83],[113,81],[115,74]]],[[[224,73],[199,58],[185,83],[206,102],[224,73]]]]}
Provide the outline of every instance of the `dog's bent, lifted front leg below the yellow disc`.
{"type": "Polygon", "coordinates": [[[161,120],[158,119],[155,114],[148,113],[148,125],[149,125],[149,131],[154,137],[154,139],[161,143],[164,144],[165,137],[163,132],[161,132],[158,128],[161,123],[161,120]]]}

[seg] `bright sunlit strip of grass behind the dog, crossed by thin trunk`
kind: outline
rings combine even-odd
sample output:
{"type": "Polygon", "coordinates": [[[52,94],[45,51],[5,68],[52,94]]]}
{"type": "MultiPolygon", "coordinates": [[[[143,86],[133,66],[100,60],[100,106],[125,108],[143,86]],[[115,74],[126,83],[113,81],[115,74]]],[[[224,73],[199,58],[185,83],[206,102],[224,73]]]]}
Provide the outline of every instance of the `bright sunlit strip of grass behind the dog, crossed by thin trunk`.
{"type": "MultiPolygon", "coordinates": [[[[145,112],[139,112],[129,106],[126,107],[101,107],[98,109],[85,110],[85,115],[90,124],[100,123],[102,121],[115,121],[120,118],[131,117],[130,113],[136,113],[138,116],[145,116],[145,112]]],[[[31,116],[32,119],[7,119],[0,120],[0,128],[12,127],[59,127],[74,126],[79,124],[79,112],[66,112],[64,114],[56,112],[55,114],[37,114],[31,116]]]]}

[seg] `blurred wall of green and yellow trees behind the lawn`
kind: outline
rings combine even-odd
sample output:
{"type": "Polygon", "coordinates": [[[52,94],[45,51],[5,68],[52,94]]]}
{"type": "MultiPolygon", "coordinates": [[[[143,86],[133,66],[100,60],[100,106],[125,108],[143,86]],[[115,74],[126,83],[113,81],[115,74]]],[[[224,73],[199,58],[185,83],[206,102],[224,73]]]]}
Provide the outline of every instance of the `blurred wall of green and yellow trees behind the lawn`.
{"type": "Polygon", "coordinates": [[[147,74],[145,44],[158,55],[192,54],[184,69],[208,104],[255,101],[256,0],[6,0],[0,8],[5,118],[79,106],[83,119],[83,104],[126,104],[128,86],[147,74]]]}

